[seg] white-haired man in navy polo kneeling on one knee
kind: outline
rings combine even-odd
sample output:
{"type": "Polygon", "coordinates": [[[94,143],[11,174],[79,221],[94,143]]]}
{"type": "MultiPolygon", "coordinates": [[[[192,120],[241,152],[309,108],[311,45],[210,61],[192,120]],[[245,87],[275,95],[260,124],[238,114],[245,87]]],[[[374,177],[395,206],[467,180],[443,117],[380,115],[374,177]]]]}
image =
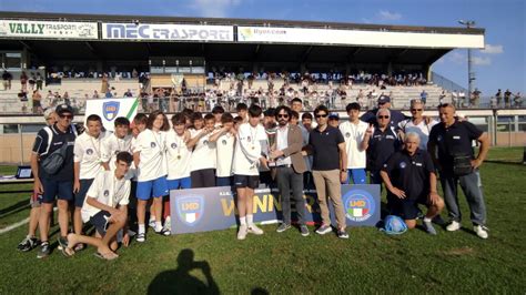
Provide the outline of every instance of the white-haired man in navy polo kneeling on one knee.
{"type": "Polygon", "coordinates": [[[441,214],[444,201],[437,194],[433,160],[418,148],[419,143],[417,133],[407,133],[404,150],[394,153],[380,173],[387,189],[391,214],[401,216],[407,227],[414,228],[418,204],[423,204],[427,206],[427,214],[422,225],[428,234],[436,235],[432,220],[441,214]]]}

